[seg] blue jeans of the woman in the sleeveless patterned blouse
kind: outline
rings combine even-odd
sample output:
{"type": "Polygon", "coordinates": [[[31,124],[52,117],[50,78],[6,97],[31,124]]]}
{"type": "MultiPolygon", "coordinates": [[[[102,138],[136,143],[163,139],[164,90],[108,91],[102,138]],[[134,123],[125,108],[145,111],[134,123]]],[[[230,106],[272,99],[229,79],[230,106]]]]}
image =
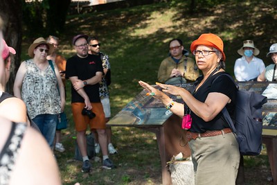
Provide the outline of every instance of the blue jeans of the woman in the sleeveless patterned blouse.
{"type": "Polygon", "coordinates": [[[53,148],[57,127],[57,114],[39,114],[33,118],[48,145],[53,148]]]}

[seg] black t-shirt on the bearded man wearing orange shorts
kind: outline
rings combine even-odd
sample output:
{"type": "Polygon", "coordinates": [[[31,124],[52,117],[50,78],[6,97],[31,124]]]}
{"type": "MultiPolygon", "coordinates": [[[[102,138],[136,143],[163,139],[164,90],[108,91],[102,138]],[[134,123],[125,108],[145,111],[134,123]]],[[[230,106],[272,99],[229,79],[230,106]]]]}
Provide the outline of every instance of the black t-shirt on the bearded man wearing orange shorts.
{"type": "MultiPolygon", "coordinates": [[[[87,58],[80,58],[74,55],[66,61],[66,78],[77,76],[80,80],[87,80],[96,76],[96,72],[103,72],[102,61],[98,55],[88,55],[87,58]]],[[[84,91],[89,96],[91,103],[100,103],[99,83],[87,85],[84,91]]],[[[71,85],[71,103],[84,103],[84,98],[78,94],[71,85]]]]}

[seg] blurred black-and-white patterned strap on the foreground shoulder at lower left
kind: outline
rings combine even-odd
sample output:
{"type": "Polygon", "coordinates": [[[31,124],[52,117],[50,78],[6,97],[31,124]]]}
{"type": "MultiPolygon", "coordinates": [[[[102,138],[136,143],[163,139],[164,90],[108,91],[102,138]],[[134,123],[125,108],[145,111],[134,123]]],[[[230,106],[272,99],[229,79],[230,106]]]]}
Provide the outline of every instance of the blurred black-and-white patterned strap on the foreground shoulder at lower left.
{"type": "Polygon", "coordinates": [[[10,175],[15,168],[18,150],[26,132],[27,125],[24,123],[12,123],[10,135],[0,152],[0,184],[9,184],[10,175]]]}

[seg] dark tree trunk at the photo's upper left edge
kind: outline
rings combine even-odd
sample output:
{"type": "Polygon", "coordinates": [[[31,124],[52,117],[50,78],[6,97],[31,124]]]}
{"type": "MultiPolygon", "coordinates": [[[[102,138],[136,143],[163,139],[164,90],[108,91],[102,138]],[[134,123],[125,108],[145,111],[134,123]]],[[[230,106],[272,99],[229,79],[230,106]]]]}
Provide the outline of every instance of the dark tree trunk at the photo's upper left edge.
{"type": "Polygon", "coordinates": [[[8,46],[12,46],[17,54],[12,58],[10,68],[10,80],[6,85],[6,91],[12,94],[13,82],[17,69],[21,63],[21,42],[22,42],[22,26],[21,26],[21,1],[18,0],[0,0],[0,16],[4,21],[3,37],[8,46]]]}

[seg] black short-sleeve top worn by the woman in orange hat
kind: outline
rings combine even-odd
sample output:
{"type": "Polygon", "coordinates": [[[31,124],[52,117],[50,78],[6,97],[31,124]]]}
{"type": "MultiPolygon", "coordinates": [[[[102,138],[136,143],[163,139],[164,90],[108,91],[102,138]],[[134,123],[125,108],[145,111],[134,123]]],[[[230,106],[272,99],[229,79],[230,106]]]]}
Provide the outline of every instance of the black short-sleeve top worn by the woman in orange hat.
{"type": "MultiPolygon", "coordinates": [[[[234,82],[229,78],[229,76],[222,75],[219,72],[215,73],[213,76],[209,76],[204,84],[193,92],[193,96],[201,101],[205,102],[209,93],[217,92],[222,93],[228,96],[231,99],[231,103],[227,103],[226,109],[228,110],[232,120],[235,118],[235,101],[237,97],[237,87],[235,87],[234,82]],[[220,76],[217,78],[217,76],[220,76]],[[216,78],[216,79],[215,79],[216,78]]],[[[199,82],[203,79],[203,76],[200,76],[195,85],[198,85],[199,82]]],[[[204,121],[202,118],[198,117],[196,114],[191,112],[191,117],[193,118],[193,123],[190,128],[190,132],[204,133],[207,130],[222,130],[223,128],[229,127],[228,123],[224,120],[222,112],[217,114],[215,118],[211,121],[204,121]]]]}

